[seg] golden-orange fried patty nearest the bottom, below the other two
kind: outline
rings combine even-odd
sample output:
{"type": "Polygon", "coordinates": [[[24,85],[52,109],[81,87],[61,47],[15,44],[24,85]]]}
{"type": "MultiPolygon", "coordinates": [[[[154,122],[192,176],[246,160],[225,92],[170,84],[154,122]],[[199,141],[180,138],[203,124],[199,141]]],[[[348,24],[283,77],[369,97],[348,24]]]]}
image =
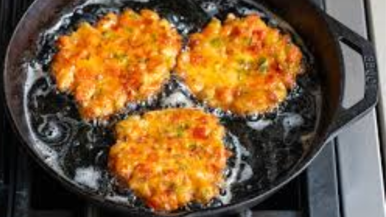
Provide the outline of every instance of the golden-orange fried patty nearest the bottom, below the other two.
{"type": "Polygon", "coordinates": [[[230,151],[224,128],[198,109],[167,109],[131,116],[116,126],[108,166],[147,205],[171,211],[219,195],[230,151]]]}

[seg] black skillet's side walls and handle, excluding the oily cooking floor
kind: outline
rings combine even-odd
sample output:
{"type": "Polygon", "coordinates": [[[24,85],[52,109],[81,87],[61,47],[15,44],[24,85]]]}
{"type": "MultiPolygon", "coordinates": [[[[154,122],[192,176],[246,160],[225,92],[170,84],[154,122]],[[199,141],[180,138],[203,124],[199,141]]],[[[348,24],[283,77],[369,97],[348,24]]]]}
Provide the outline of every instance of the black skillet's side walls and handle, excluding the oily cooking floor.
{"type": "MultiPolygon", "coordinates": [[[[24,105],[24,86],[27,81],[26,74],[23,73],[24,59],[34,56],[33,51],[36,40],[39,38],[42,29],[51,23],[54,17],[57,17],[63,8],[64,10],[70,9],[75,3],[76,1],[73,0],[37,0],[31,5],[15,30],[7,51],[3,79],[8,112],[14,122],[15,131],[19,133],[26,149],[36,161],[70,190],[90,198],[93,202],[123,212],[129,212],[134,216],[155,216],[155,214],[146,210],[129,209],[118,203],[104,201],[95,193],[75,186],[44,163],[44,159],[33,147],[37,141],[32,136],[24,105]]],[[[313,143],[300,160],[300,163],[295,164],[286,174],[279,176],[264,191],[248,192],[245,197],[237,198],[237,202],[230,205],[181,215],[220,215],[224,212],[237,212],[245,207],[256,205],[298,175],[319,153],[329,138],[334,136],[346,124],[364,115],[376,103],[378,78],[374,50],[369,42],[328,17],[307,0],[265,0],[262,3],[296,29],[315,56],[323,99],[321,105],[322,118],[318,122],[313,143]],[[344,71],[339,41],[347,43],[364,56],[365,98],[352,108],[342,107],[345,76],[350,75],[349,72],[344,71]]]]}

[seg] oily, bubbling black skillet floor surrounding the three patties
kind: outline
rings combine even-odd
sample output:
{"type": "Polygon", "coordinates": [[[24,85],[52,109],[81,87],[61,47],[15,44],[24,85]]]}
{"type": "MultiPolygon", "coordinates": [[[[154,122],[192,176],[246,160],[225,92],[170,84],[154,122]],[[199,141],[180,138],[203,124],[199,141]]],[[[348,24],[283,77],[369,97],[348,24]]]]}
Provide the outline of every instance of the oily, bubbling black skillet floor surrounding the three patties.
{"type": "Polygon", "coordinates": [[[207,207],[190,204],[176,214],[243,202],[274,188],[294,173],[312,149],[322,104],[320,81],[306,45],[279,17],[264,6],[244,0],[89,0],[66,5],[54,22],[44,25],[33,58],[24,64],[24,105],[34,137],[33,149],[44,163],[77,188],[100,201],[149,211],[128,189],[116,185],[107,170],[107,156],[114,143],[114,124],[133,114],[169,107],[197,107],[219,117],[227,128],[225,144],[234,153],[225,171],[228,187],[207,207]],[[306,72],[287,100],[268,114],[239,117],[199,102],[178,77],[172,76],[162,93],[146,102],[132,103],[122,114],[105,122],[84,122],[73,98],[58,93],[50,76],[58,36],[69,34],[81,22],[95,23],[108,12],[149,8],[169,20],[184,37],[200,31],[211,17],[224,20],[228,13],[257,13],[270,26],[289,33],[305,56],[306,72]]]}

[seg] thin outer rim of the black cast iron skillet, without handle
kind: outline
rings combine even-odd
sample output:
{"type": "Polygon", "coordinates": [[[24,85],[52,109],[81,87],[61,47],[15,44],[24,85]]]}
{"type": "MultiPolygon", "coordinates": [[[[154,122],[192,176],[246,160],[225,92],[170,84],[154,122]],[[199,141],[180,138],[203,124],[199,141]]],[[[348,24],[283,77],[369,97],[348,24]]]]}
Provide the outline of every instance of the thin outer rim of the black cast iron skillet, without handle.
{"type": "MultiPolygon", "coordinates": [[[[6,50],[6,55],[5,55],[5,61],[4,61],[4,66],[3,66],[3,95],[5,96],[5,105],[6,105],[6,113],[8,119],[10,119],[10,125],[12,126],[13,131],[17,134],[17,137],[22,143],[22,146],[27,146],[24,147],[29,154],[31,154],[32,158],[35,159],[35,161],[41,165],[44,170],[47,171],[54,179],[58,180],[60,183],[63,184],[63,186],[66,187],[69,191],[76,193],[78,195],[81,195],[82,197],[88,199],[91,202],[97,202],[100,203],[101,205],[108,205],[109,207],[115,207],[120,210],[125,210],[128,211],[129,213],[138,213],[138,212],[146,212],[146,214],[149,215],[157,215],[157,213],[151,212],[150,210],[142,210],[139,209],[138,207],[128,207],[125,206],[122,203],[115,203],[112,202],[111,200],[106,199],[105,197],[102,197],[100,195],[97,195],[91,191],[88,191],[85,188],[81,188],[78,185],[75,185],[73,182],[65,178],[65,176],[60,175],[54,168],[49,166],[43,159],[42,156],[37,153],[36,148],[34,148],[33,141],[30,140],[30,138],[27,137],[27,135],[24,135],[21,132],[21,127],[19,125],[19,122],[16,121],[16,115],[13,110],[12,110],[12,105],[10,104],[10,101],[12,99],[12,95],[9,91],[9,83],[6,82],[8,73],[10,73],[12,66],[10,66],[10,50],[12,49],[12,45],[15,43],[15,37],[17,34],[21,31],[22,24],[24,24],[29,16],[29,12],[37,7],[39,3],[41,3],[42,0],[34,0],[32,4],[27,8],[23,16],[20,18],[18,24],[16,25],[14,32],[12,34],[12,37],[10,38],[10,41],[8,42],[7,50],[6,50]],[[107,203],[107,204],[106,204],[107,203]]],[[[71,2],[74,2],[71,0],[71,2]]],[[[323,15],[323,11],[320,8],[317,8],[315,5],[312,5],[312,3],[308,3],[315,13],[322,17],[323,21],[326,22],[325,16],[323,15]]],[[[327,25],[327,22],[326,22],[327,25]]],[[[342,52],[341,48],[339,46],[339,42],[336,39],[336,37],[333,34],[333,30],[327,25],[328,33],[333,37],[334,41],[334,47],[335,47],[335,52],[339,56],[339,63],[342,63],[343,57],[342,57],[342,52]]],[[[340,70],[340,73],[342,76],[344,76],[344,73],[342,73],[342,70],[340,70]]],[[[340,88],[343,88],[342,81],[340,81],[340,88]]],[[[339,100],[342,99],[342,95],[339,96],[339,100]]],[[[25,119],[25,117],[22,117],[25,119]]],[[[166,216],[189,216],[189,217],[195,217],[195,216],[208,216],[208,215],[214,215],[214,214],[220,214],[223,212],[235,212],[236,210],[242,209],[242,207],[251,207],[252,205],[256,205],[257,203],[261,202],[265,198],[269,197],[273,193],[277,192],[279,189],[281,189],[284,185],[286,185],[289,181],[293,180],[296,176],[298,176],[301,172],[305,170],[306,167],[313,161],[314,158],[318,156],[318,154],[322,151],[323,147],[327,144],[329,141],[331,135],[323,135],[320,138],[320,141],[318,142],[319,144],[317,146],[314,146],[312,151],[306,154],[306,156],[303,156],[302,158],[299,159],[299,162],[291,168],[291,172],[288,173],[288,176],[284,176],[279,180],[275,180],[271,188],[264,189],[262,193],[259,193],[257,196],[251,196],[246,199],[241,200],[240,202],[233,202],[229,203],[226,205],[222,205],[220,207],[208,207],[200,210],[194,210],[194,211],[187,211],[187,212],[182,212],[180,214],[169,214],[166,216]]],[[[256,194],[256,193],[255,193],[256,194]]]]}

